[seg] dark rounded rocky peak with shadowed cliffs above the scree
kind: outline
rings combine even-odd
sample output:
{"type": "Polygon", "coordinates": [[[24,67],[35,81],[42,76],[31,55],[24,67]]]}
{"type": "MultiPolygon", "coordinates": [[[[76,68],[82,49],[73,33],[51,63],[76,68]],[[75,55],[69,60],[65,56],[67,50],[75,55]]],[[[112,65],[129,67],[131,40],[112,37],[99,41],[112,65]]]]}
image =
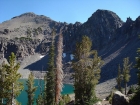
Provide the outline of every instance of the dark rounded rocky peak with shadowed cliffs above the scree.
{"type": "Polygon", "coordinates": [[[89,36],[93,42],[93,48],[100,50],[116,37],[116,30],[122,24],[123,22],[115,13],[107,10],[97,10],[84,24],[71,24],[67,31],[64,31],[66,50],[71,51],[74,45],[72,41],[80,39],[82,35],[89,36]],[[68,43],[72,44],[70,49],[68,43]]]}

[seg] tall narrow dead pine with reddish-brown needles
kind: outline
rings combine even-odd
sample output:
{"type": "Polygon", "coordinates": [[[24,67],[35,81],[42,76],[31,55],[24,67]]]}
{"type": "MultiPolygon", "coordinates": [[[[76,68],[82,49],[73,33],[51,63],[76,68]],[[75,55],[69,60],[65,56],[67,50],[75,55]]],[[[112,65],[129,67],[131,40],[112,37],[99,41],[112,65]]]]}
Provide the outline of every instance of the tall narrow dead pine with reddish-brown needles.
{"type": "Polygon", "coordinates": [[[55,86],[55,103],[59,104],[61,99],[61,91],[63,87],[63,70],[62,70],[62,53],[63,53],[63,36],[60,31],[58,43],[57,43],[57,56],[56,56],[56,86],[55,86]]]}

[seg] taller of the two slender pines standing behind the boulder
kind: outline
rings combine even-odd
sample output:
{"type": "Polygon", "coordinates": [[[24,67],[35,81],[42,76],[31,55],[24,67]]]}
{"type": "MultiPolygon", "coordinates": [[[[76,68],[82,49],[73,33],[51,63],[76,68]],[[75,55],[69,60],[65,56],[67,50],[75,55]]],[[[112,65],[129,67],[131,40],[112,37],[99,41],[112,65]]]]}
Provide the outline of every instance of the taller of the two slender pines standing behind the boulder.
{"type": "Polygon", "coordinates": [[[130,67],[131,64],[129,64],[129,57],[124,58],[123,60],[123,82],[124,82],[124,87],[125,87],[125,95],[126,95],[126,88],[127,88],[127,83],[130,80],[130,67]]]}

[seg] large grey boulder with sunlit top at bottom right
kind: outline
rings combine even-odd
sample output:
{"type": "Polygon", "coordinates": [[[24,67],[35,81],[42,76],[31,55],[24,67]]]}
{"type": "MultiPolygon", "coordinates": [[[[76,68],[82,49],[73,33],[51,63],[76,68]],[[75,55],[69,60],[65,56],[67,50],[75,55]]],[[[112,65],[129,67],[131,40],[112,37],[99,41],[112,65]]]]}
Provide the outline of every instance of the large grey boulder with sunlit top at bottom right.
{"type": "Polygon", "coordinates": [[[112,97],[112,105],[128,105],[129,99],[120,91],[115,91],[112,97]]]}

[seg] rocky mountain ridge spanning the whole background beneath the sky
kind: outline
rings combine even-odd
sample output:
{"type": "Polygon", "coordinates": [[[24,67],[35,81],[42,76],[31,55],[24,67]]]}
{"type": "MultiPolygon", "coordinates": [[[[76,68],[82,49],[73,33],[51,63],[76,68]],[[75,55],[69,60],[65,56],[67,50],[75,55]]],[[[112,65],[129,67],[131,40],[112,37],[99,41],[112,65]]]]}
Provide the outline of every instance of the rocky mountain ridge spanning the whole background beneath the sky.
{"type": "MultiPolygon", "coordinates": [[[[49,51],[53,27],[56,29],[57,35],[60,28],[63,27],[63,45],[64,53],[66,53],[64,71],[67,73],[71,69],[70,65],[68,69],[66,65],[71,61],[70,55],[75,49],[76,42],[83,35],[90,37],[93,42],[92,49],[98,50],[105,62],[102,68],[101,81],[116,77],[117,66],[122,63],[124,57],[130,57],[130,61],[134,62],[136,49],[140,47],[138,40],[140,17],[135,21],[128,18],[126,22],[123,22],[112,11],[97,10],[83,24],[80,22],[68,24],[56,22],[43,15],[25,13],[0,24],[0,57],[7,58],[11,52],[14,52],[17,59],[24,62],[28,61],[29,56],[36,53],[46,55],[49,51]]],[[[57,38],[55,40],[57,41],[57,38]]],[[[41,70],[42,67],[39,65],[42,62],[47,62],[47,56],[38,61],[26,63],[23,69],[41,70]]],[[[41,66],[46,67],[45,63],[41,66]]],[[[132,74],[135,74],[135,71],[132,74]]]]}

